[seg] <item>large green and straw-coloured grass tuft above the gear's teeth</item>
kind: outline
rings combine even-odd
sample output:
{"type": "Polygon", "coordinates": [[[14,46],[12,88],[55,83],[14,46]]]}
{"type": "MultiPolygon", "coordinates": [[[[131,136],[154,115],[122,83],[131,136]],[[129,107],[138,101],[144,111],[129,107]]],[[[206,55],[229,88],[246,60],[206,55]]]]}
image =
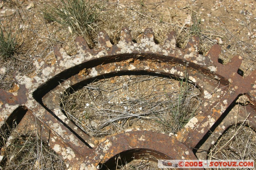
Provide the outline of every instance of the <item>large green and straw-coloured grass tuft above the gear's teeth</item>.
{"type": "Polygon", "coordinates": [[[48,22],[58,22],[70,33],[75,31],[77,35],[87,38],[97,21],[95,4],[88,0],[61,0],[60,7],[47,6],[43,14],[48,22]]]}

